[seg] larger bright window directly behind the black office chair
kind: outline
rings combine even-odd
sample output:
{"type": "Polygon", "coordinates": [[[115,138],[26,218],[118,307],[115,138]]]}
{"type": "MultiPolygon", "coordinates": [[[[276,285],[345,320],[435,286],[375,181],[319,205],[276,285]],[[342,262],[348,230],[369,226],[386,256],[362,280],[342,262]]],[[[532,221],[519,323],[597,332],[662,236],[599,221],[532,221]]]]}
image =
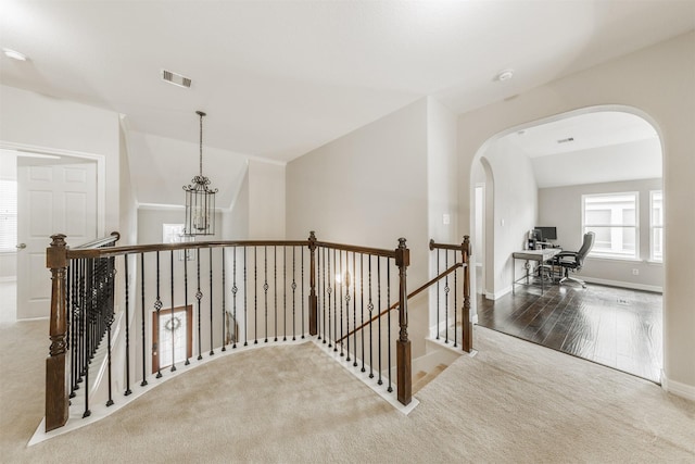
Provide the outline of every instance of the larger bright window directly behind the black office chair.
{"type": "Polygon", "coordinates": [[[637,192],[582,196],[582,227],[595,234],[594,256],[637,259],[637,192]]]}

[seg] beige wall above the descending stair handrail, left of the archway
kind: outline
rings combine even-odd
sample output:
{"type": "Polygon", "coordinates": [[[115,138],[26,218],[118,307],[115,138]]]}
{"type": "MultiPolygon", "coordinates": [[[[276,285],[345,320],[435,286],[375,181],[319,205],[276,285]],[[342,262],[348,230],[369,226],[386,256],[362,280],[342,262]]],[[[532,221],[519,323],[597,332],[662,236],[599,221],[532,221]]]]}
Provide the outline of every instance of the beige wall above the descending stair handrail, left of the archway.
{"type": "MultiPolygon", "coordinates": [[[[290,162],[287,235],[410,249],[408,287],[428,278],[428,103],[419,100],[290,162]]],[[[424,353],[427,301],[408,305],[413,355],[424,353]],[[415,331],[415,328],[419,333],[415,331]]]]}

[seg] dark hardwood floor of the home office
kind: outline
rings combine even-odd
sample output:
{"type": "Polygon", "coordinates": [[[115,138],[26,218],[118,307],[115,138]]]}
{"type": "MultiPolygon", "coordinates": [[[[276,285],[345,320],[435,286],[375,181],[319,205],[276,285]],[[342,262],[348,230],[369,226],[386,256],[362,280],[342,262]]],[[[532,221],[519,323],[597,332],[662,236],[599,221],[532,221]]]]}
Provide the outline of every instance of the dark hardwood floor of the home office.
{"type": "Polygon", "coordinates": [[[587,284],[479,296],[478,324],[660,383],[661,294],[587,284]]]}

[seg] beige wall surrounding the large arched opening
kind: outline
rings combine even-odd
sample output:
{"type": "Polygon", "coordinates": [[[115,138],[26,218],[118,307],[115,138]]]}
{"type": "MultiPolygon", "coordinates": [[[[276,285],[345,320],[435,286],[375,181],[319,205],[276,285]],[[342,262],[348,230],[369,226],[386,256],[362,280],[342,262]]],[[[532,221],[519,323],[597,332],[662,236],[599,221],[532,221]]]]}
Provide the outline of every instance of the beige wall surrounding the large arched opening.
{"type": "MultiPolygon", "coordinates": [[[[459,178],[467,180],[476,154],[493,136],[561,113],[595,105],[631,108],[653,123],[664,147],[664,381],[667,389],[695,399],[694,76],[695,33],[688,33],[463,114],[458,152],[459,178]]],[[[462,230],[468,229],[472,188],[459,191],[462,230]]]]}

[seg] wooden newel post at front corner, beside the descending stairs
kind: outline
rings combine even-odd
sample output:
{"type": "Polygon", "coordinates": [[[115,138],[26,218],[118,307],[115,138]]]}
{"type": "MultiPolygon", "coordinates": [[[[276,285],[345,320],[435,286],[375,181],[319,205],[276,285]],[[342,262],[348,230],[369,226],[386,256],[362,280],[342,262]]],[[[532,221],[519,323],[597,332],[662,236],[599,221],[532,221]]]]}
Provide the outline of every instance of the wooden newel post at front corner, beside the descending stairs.
{"type": "Polygon", "coordinates": [[[408,340],[408,288],[406,267],[410,264],[410,250],[405,239],[399,239],[395,250],[395,265],[399,266],[399,340],[396,341],[395,363],[397,380],[397,399],[402,404],[409,404],[413,399],[413,376],[410,365],[410,340],[408,340]]]}

